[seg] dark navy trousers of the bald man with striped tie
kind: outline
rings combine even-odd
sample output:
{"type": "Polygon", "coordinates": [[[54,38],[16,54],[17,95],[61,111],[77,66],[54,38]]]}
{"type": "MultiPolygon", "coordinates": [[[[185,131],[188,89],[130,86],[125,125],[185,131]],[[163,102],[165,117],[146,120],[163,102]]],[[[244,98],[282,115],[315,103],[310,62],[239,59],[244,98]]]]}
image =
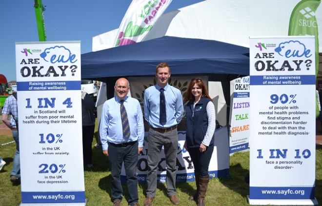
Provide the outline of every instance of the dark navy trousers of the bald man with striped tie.
{"type": "Polygon", "coordinates": [[[122,146],[121,144],[108,143],[108,159],[111,169],[111,196],[113,202],[122,200],[122,185],[121,185],[121,168],[124,162],[124,169],[126,174],[127,190],[129,192],[128,204],[133,205],[138,203],[138,177],[137,177],[137,164],[138,164],[138,142],[122,146]]]}

